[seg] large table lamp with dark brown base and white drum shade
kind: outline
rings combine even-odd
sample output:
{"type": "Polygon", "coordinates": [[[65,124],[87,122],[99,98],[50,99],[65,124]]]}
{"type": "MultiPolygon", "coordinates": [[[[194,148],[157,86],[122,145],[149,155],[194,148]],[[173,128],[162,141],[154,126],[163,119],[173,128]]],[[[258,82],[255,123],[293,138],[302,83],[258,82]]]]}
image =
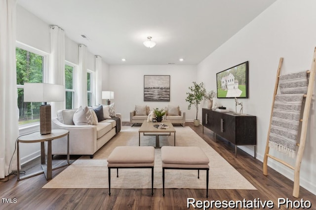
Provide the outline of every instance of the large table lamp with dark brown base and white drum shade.
{"type": "Polygon", "coordinates": [[[51,106],[47,102],[65,101],[65,86],[48,83],[24,83],[24,102],[41,102],[40,134],[51,133],[51,106]]]}

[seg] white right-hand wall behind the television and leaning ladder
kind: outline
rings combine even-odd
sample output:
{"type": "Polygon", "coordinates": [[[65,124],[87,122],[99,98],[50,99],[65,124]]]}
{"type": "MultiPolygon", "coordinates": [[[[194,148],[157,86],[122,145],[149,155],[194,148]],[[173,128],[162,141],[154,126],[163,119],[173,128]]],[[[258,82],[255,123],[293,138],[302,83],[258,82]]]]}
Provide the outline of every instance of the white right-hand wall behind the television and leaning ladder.
{"type": "MultiPolygon", "coordinates": [[[[249,61],[249,99],[243,112],[257,116],[257,158],[263,161],[270,123],[272,96],[280,57],[281,73],[311,68],[316,47],[316,1],[278,0],[261,15],[210,54],[197,67],[197,80],[216,90],[216,73],[249,61]],[[206,80],[210,78],[211,80],[206,80]]],[[[316,88],[314,88],[314,96],[316,88]]],[[[215,99],[218,105],[235,110],[234,99],[215,99]]],[[[301,186],[316,194],[316,103],[312,102],[301,186]]],[[[252,147],[242,147],[253,154],[252,147]]],[[[294,160],[270,149],[270,153],[294,165],[294,160]]],[[[269,159],[269,166],[293,180],[293,171],[269,159]]]]}

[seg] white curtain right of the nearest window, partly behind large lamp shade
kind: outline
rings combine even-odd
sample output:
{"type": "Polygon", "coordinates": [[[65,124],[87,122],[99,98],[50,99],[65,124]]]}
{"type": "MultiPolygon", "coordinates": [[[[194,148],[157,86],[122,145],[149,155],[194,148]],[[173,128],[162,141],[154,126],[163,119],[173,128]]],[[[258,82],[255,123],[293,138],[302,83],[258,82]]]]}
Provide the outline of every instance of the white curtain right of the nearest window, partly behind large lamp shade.
{"type": "MultiPolygon", "coordinates": [[[[50,26],[50,61],[47,81],[51,84],[65,85],[65,33],[58,26],[50,26]]],[[[65,109],[66,102],[52,102],[51,116],[65,109]]]]}

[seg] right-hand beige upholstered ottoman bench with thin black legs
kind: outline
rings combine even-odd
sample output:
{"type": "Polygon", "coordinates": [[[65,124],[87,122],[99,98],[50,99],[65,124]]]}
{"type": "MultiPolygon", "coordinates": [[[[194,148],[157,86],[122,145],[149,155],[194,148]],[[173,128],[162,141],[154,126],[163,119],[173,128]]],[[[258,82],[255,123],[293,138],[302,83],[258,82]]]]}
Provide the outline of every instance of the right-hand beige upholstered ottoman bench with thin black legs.
{"type": "Polygon", "coordinates": [[[199,170],[206,170],[206,198],[208,197],[208,172],[209,159],[203,150],[197,146],[162,146],[162,189],[164,196],[164,170],[165,169],[182,169],[197,170],[197,178],[199,178],[199,170]]]}

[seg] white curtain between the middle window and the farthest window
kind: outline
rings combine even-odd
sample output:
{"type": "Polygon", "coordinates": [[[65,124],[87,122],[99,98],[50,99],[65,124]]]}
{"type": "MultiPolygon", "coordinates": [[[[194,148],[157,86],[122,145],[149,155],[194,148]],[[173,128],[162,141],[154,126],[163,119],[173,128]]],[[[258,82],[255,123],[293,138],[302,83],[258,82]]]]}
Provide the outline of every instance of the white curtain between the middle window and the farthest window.
{"type": "Polygon", "coordinates": [[[87,57],[87,46],[84,44],[79,44],[79,70],[77,73],[76,80],[76,105],[87,105],[87,67],[86,67],[86,57],[87,57]]]}

